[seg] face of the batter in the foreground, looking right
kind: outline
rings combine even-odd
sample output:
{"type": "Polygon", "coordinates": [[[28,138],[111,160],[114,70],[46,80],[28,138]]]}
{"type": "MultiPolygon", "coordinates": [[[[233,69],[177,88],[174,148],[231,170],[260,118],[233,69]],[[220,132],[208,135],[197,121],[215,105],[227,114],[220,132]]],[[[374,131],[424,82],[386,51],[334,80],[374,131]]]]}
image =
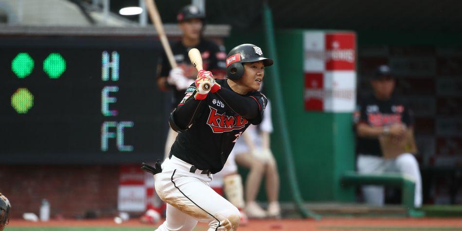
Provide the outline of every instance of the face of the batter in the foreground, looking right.
{"type": "Polygon", "coordinates": [[[244,85],[249,90],[258,90],[263,82],[263,70],[265,66],[263,61],[254,63],[244,63],[244,75],[240,79],[241,85],[244,85]]]}

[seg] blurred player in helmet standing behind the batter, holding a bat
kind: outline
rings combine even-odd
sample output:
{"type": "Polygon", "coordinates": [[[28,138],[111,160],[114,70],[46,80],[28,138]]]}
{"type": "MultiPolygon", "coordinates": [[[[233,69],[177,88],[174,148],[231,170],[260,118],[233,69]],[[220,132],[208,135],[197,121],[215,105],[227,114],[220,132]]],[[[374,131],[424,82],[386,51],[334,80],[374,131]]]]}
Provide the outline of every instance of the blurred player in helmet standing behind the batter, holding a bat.
{"type": "MultiPolygon", "coordinates": [[[[204,12],[195,5],[187,5],[180,10],[177,20],[182,37],[181,40],[172,45],[172,52],[178,67],[172,69],[164,53],[157,80],[161,90],[172,89],[172,110],[177,107],[185,90],[194,83],[197,76],[197,71],[188,57],[189,50],[197,48],[201,52],[204,70],[211,71],[215,78],[224,78],[226,70],[225,48],[202,37],[205,23],[204,12]]],[[[176,136],[177,133],[169,129],[165,144],[165,157],[168,155],[176,136]]]]}

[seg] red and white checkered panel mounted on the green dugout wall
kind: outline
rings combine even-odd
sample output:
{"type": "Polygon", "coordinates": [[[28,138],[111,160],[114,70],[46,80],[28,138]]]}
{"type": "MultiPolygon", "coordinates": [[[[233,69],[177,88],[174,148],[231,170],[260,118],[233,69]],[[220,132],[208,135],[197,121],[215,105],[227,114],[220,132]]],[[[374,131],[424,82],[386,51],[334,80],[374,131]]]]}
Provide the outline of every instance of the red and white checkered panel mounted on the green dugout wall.
{"type": "Polygon", "coordinates": [[[355,33],[305,32],[303,58],[305,109],[353,112],[356,105],[355,33]]]}

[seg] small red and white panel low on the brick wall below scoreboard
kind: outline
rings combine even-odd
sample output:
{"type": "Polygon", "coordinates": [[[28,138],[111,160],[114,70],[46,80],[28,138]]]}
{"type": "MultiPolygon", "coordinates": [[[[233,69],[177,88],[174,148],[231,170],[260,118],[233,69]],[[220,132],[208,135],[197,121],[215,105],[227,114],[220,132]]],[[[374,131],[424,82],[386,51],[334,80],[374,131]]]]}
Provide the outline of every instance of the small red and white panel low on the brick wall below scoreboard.
{"type": "MultiPolygon", "coordinates": [[[[152,176],[152,175],[151,175],[152,176]]],[[[139,165],[120,167],[117,209],[124,212],[144,212],[146,209],[145,173],[139,165]]]]}

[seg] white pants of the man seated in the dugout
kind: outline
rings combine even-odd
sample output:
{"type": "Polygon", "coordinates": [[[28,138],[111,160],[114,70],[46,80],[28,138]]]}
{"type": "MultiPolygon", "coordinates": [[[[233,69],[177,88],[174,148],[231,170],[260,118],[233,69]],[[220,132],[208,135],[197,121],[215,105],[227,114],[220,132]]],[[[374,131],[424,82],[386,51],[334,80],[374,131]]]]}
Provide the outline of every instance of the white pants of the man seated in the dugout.
{"type": "MultiPolygon", "coordinates": [[[[359,173],[399,172],[408,175],[415,180],[414,206],[416,208],[422,206],[422,177],[420,175],[419,164],[414,155],[403,153],[393,159],[384,159],[377,156],[359,154],[356,164],[359,173]]],[[[367,203],[379,206],[384,204],[383,186],[363,186],[362,192],[367,203]]]]}

